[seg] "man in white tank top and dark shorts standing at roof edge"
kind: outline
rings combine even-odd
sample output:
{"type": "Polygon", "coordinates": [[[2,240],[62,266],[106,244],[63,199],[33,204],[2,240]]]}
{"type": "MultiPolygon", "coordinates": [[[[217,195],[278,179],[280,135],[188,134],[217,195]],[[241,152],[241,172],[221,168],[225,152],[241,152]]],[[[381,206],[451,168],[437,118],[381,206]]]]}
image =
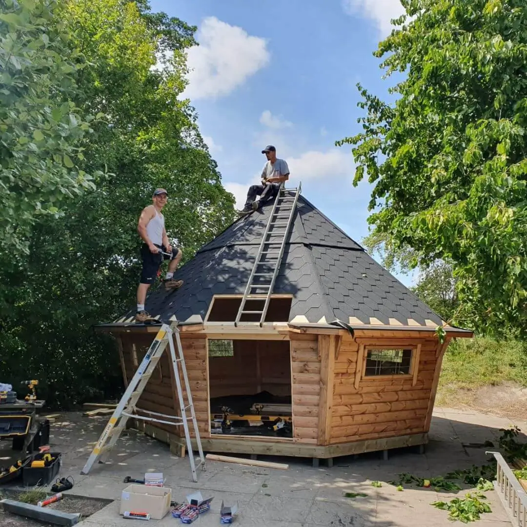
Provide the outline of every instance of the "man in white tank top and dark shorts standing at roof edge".
{"type": "Polygon", "coordinates": [[[165,230],[164,216],[161,214],[161,210],[167,204],[167,199],[168,193],[165,189],[155,189],[152,196],[153,204],[145,207],[139,218],[137,230],[144,243],[141,246],[143,269],[137,288],[136,322],[144,322],[151,319],[144,309],[144,302],[147,298],[148,288],[157,277],[163,259],[170,259],[168,272],[163,280],[165,289],[178,289],[183,285],[183,280],[173,279],[174,271],[178,267],[183,253],[181,249],[170,245],[167,231],[165,230]],[[171,256],[165,256],[161,251],[170,253],[171,256]]]}

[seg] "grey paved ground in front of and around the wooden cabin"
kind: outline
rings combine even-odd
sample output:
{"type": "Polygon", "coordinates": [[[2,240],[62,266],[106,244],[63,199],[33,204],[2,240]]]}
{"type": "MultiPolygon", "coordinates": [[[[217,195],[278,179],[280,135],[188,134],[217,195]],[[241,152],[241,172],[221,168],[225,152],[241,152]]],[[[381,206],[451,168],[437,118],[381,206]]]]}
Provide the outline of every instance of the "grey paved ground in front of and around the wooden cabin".
{"type": "MultiPolygon", "coordinates": [[[[123,477],[141,478],[147,471],[163,472],[175,501],[182,501],[187,493],[197,489],[204,495],[214,496],[211,511],[194,522],[197,527],[220,525],[222,500],[238,502],[235,525],[240,527],[452,525],[447,519],[448,513],[430,503],[450,500],[455,493],[438,494],[430,489],[409,488],[397,492],[387,483],[376,488],[371,482],[393,480],[401,472],[428,478],[467,469],[473,464],[485,464],[489,456],[485,455],[484,448],[465,448],[462,443],[493,441],[500,435],[499,428],[517,424],[523,430],[524,425],[475,412],[437,409],[424,455],[399,451],[392,453],[388,461],[383,461],[378,453],[341,457],[335,459],[330,469],[327,466],[314,469],[308,459],[260,457],[289,463],[287,471],[208,461],[207,471],[200,474],[199,483],[193,483],[188,457],[175,457],[167,445],[133,431],[120,440],[111,466],[95,465],[89,475],[81,476],[93,442],[107,419],[108,416],[88,418],[67,413],[53,423],[52,450],[62,452],[64,458],[60,475],[72,475],[75,480],[74,488],[68,493],[115,500],[79,523],[81,527],[130,527],[130,520],[119,515],[121,491],[126,486],[123,477]],[[350,499],[344,497],[345,492],[363,492],[367,496],[350,499]]],[[[6,454],[0,452],[0,459],[2,455],[6,454]]],[[[468,487],[458,494],[463,495],[467,490],[468,487]]],[[[486,494],[492,513],[484,514],[477,524],[509,527],[511,523],[495,492],[486,494]]],[[[181,524],[170,514],[161,521],[151,522],[160,526],[181,524]]]]}

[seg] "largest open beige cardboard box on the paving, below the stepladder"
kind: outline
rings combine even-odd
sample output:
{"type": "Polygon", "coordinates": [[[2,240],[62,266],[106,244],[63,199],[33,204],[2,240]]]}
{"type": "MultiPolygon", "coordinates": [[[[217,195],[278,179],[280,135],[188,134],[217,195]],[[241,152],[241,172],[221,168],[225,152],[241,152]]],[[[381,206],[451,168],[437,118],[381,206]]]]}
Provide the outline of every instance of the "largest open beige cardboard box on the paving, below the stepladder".
{"type": "Polygon", "coordinates": [[[121,510],[148,512],[153,520],[161,520],[170,511],[172,489],[132,484],[121,492],[121,510]]]}

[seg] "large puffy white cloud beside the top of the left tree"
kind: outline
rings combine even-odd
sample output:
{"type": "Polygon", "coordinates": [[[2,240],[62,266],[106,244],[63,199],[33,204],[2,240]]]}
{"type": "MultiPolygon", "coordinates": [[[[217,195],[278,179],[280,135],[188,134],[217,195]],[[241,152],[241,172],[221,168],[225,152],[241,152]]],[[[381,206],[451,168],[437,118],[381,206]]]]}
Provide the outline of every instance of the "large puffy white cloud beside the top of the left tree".
{"type": "Polygon", "coordinates": [[[265,38],[248,35],[214,16],[203,20],[197,40],[199,46],[187,52],[189,85],[183,97],[227,95],[269,63],[265,38]]]}

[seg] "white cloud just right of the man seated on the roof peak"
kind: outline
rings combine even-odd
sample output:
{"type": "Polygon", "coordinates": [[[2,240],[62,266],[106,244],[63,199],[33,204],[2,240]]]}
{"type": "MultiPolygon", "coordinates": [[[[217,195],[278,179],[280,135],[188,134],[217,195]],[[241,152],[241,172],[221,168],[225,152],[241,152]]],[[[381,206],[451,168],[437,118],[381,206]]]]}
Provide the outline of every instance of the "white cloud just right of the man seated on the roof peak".
{"type": "Polygon", "coordinates": [[[354,169],[353,156],[337,149],[327,152],[311,150],[286,161],[291,171],[290,178],[300,181],[348,178],[354,169]]]}

